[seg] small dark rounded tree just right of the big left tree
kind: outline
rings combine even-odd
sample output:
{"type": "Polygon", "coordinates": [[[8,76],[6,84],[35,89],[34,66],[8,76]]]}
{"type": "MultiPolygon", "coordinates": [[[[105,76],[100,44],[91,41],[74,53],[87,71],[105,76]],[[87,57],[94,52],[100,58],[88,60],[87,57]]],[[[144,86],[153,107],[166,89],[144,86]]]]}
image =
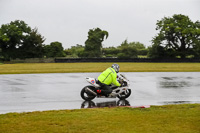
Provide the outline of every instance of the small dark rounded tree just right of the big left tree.
{"type": "Polygon", "coordinates": [[[63,51],[62,43],[52,42],[50,45],[44,46],[46,57],[64,57],[65,53],[63,51]]]}

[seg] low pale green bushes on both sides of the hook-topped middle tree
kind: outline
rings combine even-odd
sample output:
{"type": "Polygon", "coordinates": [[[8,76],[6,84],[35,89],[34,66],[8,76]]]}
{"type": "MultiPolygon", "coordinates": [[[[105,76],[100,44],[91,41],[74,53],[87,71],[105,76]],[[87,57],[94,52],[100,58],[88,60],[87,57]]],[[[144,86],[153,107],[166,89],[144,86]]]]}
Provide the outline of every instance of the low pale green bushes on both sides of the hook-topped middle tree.
{"type": "Polygon", "coordinates": [[[77,44],[64,50],[66,57],[117,57],[117,58],[138,58],[147,57],[148,48],[140,42],[128,42],[125,40],[120,46],[101,48],[100,56],[85,56],[85,47],[77,44]]]}

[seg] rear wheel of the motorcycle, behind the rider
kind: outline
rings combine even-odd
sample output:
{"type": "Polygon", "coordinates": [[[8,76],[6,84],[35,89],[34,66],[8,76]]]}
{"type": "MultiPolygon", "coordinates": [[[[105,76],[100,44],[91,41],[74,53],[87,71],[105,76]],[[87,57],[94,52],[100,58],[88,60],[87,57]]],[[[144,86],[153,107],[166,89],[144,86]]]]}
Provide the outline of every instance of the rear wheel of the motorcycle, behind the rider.
{"type": "Polygon", "coordinates": [[[95,90],[95,88],[93,86],[85,86],[82,90],[81,90],[81,97],[86,100],[86,101],[90,101],[93,100],[96,96],[94,94],[92,94],[91,92],[88,92],[86,90],[86,88],[91,89],[92,91],[95,90]]]}

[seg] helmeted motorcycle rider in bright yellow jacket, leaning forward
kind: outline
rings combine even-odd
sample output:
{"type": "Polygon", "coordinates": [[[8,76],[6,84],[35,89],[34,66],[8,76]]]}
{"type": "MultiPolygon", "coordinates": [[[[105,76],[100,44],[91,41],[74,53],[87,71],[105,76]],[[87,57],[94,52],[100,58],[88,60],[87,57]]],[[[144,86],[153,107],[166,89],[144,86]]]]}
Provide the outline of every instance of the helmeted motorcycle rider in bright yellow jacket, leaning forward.
{"type": "Polygon", "coordinates": [[[99,77],[97,83],[101,86],[101,90],[96,90],[98,94],[109,96],[112,93],[110,85],[113,83],[116,86],[121,86],[117,81],[117,73],[119,72],[119,65],[112,64],[111,67],[103,71],[99,77]]]}

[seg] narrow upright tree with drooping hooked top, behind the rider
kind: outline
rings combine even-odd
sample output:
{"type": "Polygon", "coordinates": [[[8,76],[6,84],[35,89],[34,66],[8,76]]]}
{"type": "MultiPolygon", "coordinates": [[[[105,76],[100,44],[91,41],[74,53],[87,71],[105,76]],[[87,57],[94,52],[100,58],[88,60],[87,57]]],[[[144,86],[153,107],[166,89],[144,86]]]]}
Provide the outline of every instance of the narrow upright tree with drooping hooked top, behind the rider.
{"type": "Polygon", "coordinates": [[[108,32],[102,31],[100,28],[90,29],[88,39],[85,41],[85,56],[86,57],[101,57],[102,42],[104,37],[108,38],[108,32]]]}

